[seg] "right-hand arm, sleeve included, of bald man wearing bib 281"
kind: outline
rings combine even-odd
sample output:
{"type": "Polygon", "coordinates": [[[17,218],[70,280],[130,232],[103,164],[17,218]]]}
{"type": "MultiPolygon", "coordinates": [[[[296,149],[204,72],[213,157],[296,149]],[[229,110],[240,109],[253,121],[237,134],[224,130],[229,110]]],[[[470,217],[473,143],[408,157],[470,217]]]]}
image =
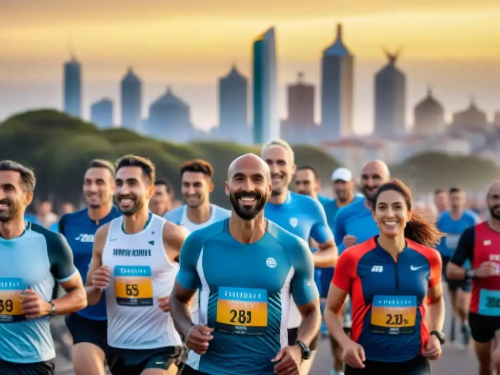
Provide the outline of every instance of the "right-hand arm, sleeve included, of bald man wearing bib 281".
{"type": "Polygon", "coordinates": [[[307,243],[302,239],[289,250],[294,273],[290,280],[290,289],[302,322],[298,327],[297,340],[307,346],[316,337],[321,327],[321,308],[319,293],[314,282],[314,263],[307,243]]]}

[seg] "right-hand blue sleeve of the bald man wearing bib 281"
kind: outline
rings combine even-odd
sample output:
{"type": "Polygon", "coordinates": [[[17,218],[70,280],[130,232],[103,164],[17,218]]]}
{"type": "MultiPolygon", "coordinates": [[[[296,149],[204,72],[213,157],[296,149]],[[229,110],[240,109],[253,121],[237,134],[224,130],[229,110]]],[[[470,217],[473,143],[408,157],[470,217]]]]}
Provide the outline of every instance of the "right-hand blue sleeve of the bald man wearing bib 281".
{"type": "Polygon", "coordinates": [[[293,238],[295,243],[288,247],[294,272],[290,281],[291,295],[297,305],[306,304],[319,297],[314,282],[314,262],[307,243],[293,238]]]}

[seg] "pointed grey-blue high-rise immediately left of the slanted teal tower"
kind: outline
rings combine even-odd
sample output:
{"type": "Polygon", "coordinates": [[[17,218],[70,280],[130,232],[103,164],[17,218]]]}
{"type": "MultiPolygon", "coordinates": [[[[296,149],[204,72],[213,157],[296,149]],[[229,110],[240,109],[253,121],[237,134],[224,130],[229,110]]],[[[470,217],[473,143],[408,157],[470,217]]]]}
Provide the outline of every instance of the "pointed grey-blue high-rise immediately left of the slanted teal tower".
{"type": "Polygon", "coordinates": [[[248,80],[233,64],[219,78],[219,133],[233,134],[248,126],[248,80]]]}

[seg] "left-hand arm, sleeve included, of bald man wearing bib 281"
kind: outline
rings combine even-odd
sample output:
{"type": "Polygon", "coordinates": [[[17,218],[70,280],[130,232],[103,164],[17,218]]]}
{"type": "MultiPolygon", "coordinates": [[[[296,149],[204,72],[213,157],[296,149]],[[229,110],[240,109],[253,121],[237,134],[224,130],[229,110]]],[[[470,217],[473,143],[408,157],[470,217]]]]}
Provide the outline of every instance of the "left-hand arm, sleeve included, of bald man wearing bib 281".
{"type": "Polygon", "coordinates": [[[196,264],[201,252],[203,242],[199,234],[193,232],[185,239],[180,249],[180,268],[170,294],[170,315],[175,329],[184,337],[194,323],[192,321],[189,303],[201,286],[201,281],[196,270],[196,264]]]}

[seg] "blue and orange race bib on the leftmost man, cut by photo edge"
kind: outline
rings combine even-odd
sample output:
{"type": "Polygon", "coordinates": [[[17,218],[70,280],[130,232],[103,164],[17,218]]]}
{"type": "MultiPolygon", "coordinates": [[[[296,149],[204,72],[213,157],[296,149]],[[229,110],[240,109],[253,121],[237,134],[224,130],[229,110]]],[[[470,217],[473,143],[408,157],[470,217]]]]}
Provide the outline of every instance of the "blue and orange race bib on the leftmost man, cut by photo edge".
{"type": "Polygon", "coordinates": [[[0,323],[26,320],[21,306],[25,288],[22,278],[0,277],[0,323]]]}

